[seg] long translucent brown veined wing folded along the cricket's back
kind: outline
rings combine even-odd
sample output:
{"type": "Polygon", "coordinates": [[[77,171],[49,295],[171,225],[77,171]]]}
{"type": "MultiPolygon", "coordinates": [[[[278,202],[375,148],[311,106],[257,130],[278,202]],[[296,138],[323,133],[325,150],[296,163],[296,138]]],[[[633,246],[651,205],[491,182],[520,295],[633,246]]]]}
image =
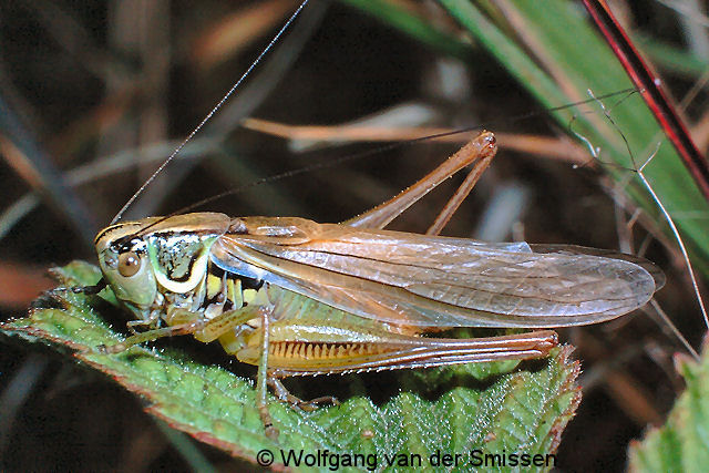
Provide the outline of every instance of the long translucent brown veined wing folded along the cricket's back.
{"type": "Polygon", "coordinates": [[[234,220],[213,259],[361,317],[422,327],[585,325],[656,290],[637,264],[559,249],[250,217],[234,220]]]}

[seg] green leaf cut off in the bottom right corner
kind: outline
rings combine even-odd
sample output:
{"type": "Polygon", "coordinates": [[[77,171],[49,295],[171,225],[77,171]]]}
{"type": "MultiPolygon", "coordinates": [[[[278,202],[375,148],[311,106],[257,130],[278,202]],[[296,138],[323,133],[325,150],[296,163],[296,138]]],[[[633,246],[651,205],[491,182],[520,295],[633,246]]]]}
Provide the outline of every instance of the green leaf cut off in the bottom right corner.
{"type": "Polygon", "coordinates": [[[676,366],[687,382],[667,422],[629,448],[630,470],[638,472],[705,472],[709,465],[709,343],[700,362],[678,356],[676,366]]]}

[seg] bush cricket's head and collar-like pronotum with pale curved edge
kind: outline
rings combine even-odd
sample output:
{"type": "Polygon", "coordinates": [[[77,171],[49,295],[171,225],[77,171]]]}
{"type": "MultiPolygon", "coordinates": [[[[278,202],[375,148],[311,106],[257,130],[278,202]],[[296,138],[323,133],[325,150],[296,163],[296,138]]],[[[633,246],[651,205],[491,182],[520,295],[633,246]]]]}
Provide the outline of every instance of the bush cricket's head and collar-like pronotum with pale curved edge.
{"type": "Polygon", "coordinates": [[[122,222],[96,235],[99,265],[116,298],[147,321],[165,295],[187,296],[205,279],[209,249],[228,226],[213,213],[122,222]]]}

